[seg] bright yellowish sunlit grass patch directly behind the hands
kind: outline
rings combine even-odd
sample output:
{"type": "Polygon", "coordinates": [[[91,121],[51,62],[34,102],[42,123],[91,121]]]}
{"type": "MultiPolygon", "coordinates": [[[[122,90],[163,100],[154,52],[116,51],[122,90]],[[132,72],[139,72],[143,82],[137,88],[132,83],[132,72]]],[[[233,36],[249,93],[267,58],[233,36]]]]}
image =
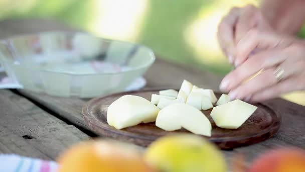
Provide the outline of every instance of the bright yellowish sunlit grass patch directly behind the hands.
{"type": "Polygon", "coordinates": [[[249,3],[257,4],[256,1],[215,1],[208,9],[203,7],[200,10],[198,17],[185,32],[186,42],[193,48],[198,61],[208,65],[227,64],[218,46],[218,24],[232,7],[242,7],[249,3]]]}

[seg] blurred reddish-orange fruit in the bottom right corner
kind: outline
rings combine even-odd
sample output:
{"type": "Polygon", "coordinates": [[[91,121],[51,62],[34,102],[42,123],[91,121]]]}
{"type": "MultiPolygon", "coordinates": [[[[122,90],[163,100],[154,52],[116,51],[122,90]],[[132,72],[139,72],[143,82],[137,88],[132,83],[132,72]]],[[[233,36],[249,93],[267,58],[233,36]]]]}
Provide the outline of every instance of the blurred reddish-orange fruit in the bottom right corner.
{"type": "Polygon", "coordinates": [[[288,147],[264,152],[249,167],[249,172],[304,172],[305,150],[288,147]]]}

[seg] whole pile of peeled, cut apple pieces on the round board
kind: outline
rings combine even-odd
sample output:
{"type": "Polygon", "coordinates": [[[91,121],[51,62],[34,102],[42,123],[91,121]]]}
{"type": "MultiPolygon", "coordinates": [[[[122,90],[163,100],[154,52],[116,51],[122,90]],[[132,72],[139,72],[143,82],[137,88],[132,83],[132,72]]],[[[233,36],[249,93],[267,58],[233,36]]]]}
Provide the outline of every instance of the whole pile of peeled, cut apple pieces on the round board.
{"type": "Polygon", "coordinates": [[[184,80],[179,92],[164,90],[151,95],[151,102],[139,97],[125,95],[114,101],[107,110],[107,122],[116,129],[155,122],[166,131],[186,130],[211,136],[212,126],[201,110],[214,107],[210,116],[220,128],[239,128],[257,109],[246,102],[229,101],[223,94],[219,100],[212,90],[201,89],[184,80]],[[157,106],[156,106],[157,105],[157,106]]]}

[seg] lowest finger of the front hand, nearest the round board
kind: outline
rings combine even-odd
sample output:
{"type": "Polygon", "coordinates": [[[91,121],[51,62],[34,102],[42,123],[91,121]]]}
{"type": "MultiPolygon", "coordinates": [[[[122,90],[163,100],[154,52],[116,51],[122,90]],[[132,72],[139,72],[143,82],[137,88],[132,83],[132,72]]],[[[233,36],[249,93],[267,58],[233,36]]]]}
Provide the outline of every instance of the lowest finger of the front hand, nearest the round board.
{"type": "Polygon", "coordinates": [[[305,75],[299,75],[296,77],[291,77],[286,80],[279,82],[276,85],[263,90],[261,92],[255,93],[250,99],[250,102],[261,102],[268,99],[273,99],[279,97],[281,94],[289,93],[298,90],[305,89],[305,81],[303,80],[305,75]]]}

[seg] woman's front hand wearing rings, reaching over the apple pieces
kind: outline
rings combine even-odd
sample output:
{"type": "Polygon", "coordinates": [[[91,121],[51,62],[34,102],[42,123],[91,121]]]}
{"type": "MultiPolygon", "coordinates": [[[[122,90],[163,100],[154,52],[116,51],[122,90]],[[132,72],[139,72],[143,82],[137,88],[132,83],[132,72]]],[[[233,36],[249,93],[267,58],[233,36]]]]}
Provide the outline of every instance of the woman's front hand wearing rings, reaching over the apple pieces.
{"type": "Polygon", "coordinates": [[[237,44],[236,55],[244,62],[220,84],[222,91],[229,92],[230,99],[258,102],[305,90],[304,41],[250,30],[237,44]],[[249,57],[255,48],[263,51],[249,57]],[[261,69],[260,74],[243,83],[261,69]]]}

